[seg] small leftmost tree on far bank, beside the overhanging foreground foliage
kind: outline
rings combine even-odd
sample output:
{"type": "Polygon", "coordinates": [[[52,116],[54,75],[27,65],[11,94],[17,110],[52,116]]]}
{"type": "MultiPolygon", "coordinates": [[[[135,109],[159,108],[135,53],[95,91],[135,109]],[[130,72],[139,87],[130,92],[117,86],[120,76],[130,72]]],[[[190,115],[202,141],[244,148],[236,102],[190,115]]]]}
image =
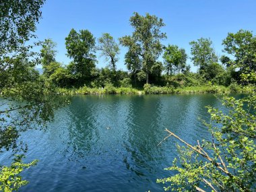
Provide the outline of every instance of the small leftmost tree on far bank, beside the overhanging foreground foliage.
{"type": "Polygon", "coordinates": [[[55,50],[56,48],[56,43],[53,42],[53,40],[51,39],[46,39],[44,40],[44,42],[42,43],[42,49],[40,50],[41,53],[41,63],[42,63],[42,69],[44,69],[43,74],[46,77],[50,77],[50,75],[52,74],[52,70],[49,72],[49,69],[52,69],[52,67],[49,67],[49,65],[51,65],[51,63],[55,62],[55,55],[57,53],[57,51],[55,50]]]}

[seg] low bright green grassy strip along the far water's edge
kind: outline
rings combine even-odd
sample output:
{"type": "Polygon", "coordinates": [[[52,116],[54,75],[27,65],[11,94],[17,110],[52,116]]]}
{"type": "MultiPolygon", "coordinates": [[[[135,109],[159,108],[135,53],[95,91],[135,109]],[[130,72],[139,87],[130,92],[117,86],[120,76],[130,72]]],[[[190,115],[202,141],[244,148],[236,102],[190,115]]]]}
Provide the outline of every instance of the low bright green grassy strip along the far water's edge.
{"type": "Polygon", "coordinates": [[[236,85],[225,86],[191,86],[182,88],[158,87],[146,84],[143,89],[135,88],[116,88],[114,86],[105,86],[104,88],[57,88],[59,94],[203,94],[203,93],[243,93],[247,92],[247,87],[236,85]]]}

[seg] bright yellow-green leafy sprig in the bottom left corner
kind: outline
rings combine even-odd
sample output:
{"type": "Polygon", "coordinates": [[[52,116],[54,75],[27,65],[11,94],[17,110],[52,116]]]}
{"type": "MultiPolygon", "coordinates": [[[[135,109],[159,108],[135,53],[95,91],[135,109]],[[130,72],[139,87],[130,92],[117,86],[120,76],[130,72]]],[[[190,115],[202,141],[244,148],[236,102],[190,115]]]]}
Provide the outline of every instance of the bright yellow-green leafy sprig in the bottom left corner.
{"type": "Polygon", "coordinates": [[[11,166],[0,167],[0,191],[11,192],[20,189],[20,187],[28,184],[28,181],[23,180],[20,173],[30,166],[36,165],[34,160],[28,164],[22,162],[24,156],[16,156],[11,166]]]}

